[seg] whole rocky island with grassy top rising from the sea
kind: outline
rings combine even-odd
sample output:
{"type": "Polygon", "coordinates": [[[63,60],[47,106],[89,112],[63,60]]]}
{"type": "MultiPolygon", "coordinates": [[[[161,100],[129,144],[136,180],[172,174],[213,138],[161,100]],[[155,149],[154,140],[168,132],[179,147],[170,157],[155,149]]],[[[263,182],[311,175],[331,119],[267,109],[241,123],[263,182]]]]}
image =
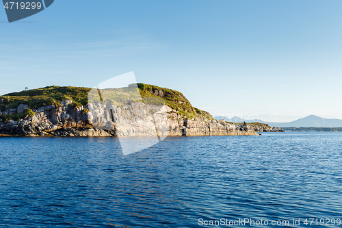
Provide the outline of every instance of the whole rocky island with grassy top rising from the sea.
{"type": "MultiPolygon", "coordinates": [[[[142,102],[88,102],[90,88],[49,86],[0,97],[0,136],[150,136],[153,123],[169,136],[258,135],[250,125],[217,121],[181,92],[137,84],[142,102]],[[148,103],[162,99],[163,105],[148,103]],[[152,114],[140,113],[151,110],[152,114]],[[163,128],[164,127],[164,128],[163,128]]],[[[120,90],[120,96],[129,94],[120,90]]],[[[157,128],[156,128],[157,129],[157,128]]]]}

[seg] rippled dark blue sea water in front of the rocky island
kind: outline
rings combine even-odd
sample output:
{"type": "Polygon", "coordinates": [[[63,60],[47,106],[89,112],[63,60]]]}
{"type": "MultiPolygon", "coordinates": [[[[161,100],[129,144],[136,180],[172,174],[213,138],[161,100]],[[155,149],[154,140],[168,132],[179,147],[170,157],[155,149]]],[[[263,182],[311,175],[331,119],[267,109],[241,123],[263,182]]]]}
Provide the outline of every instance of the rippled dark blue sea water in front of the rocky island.
{"type": "Polygon", "coordinates": [[[342,227],[341,220],[339,132],[168,137],[127,156],[118,138],[0,138],[0,227],[342,227]]]}

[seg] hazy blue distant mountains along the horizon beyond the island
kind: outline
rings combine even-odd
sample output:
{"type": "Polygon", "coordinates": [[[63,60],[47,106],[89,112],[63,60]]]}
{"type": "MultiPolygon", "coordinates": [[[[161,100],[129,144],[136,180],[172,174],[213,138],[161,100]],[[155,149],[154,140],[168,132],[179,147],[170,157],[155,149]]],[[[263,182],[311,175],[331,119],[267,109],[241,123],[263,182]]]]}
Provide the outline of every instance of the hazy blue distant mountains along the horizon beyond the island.
{"type": "Polygon", "coordinates": [[[234,116],[231,119],[226,116],[215,116],[214,118],[217,120],[224,119],[225,121],[233,123],[243,123],[244,121],[246,121],[246,123],[267,123],[272,127],[342,127],[342,120],[339,120],[337,118],[321,118],[315,115],[306,116],[296,121],[291,121],[287,123],[266,122],[261,121],[259,119],[246,120],[243,118],[239,118],[237,116],[234,116]]]}

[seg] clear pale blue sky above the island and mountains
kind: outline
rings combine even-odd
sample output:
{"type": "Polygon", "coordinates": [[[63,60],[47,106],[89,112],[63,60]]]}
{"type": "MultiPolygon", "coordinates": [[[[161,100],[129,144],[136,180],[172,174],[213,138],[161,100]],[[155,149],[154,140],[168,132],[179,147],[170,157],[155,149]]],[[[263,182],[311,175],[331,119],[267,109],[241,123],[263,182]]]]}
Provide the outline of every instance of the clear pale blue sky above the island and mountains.
{"type": "Polygon", "coordinates": [[[8,23],[0,94],[134,72],[213,116],[342,119],[342,1],[56,0],[8,23]]]}

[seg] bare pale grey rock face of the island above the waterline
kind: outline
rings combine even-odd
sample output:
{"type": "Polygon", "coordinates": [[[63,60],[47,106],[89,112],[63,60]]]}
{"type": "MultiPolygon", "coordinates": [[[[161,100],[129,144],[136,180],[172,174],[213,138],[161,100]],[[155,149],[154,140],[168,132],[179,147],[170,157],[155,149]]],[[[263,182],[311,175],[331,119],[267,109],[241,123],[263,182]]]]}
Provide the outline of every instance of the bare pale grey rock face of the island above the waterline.
{"type": "MultiPolygon", "coordinates": [[[[156,92],[162,96],[162,91],[156,92]]],[[[61,107],[39,107],[34,116],[20,121],[0,121],[0,136],[151,136],[156,130],[161,136],[254,136],[258,135],[250,125],[233,125],[214,119],[187,119],[175,110],[163,105],[146,105],[142,102],[113,107],[101,103],[89,103],[73,107],[73,101],[62,101],[61,107]],[[91,111],[90,111],[91,110],[91,111]],[[159,123],[156,125],[156,123],[159,123]]],[[[19,105],[6,113],[21,113],[27,106],[19,105]]]]}

